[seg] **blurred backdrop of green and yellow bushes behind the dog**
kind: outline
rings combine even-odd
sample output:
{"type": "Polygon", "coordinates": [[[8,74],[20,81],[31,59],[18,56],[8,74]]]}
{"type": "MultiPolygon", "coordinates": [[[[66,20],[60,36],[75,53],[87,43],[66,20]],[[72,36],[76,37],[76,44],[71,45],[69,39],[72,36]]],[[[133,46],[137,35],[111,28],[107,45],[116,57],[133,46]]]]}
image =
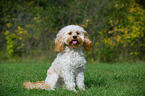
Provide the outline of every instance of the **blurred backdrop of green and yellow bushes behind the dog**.
{"type": "Polygon", "coordinates": [[[145,60],[145,0],[1,0],[0,60],[53,60],[67,25],[89,33],[98,62],[145,60]]]}

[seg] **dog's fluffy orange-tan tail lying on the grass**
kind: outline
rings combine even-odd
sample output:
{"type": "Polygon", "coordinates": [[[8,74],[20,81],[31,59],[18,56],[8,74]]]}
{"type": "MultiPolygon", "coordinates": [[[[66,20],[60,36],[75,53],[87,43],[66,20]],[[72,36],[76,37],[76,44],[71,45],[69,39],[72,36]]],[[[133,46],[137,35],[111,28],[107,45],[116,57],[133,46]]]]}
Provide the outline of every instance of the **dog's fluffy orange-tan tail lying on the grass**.
{"type": "Polygon", "coordinates": [[[23,86],[27,89],[49,89],[47,84],[44,84],[44,81],[37,81],[37,82],[25,82],[23,86]]]}

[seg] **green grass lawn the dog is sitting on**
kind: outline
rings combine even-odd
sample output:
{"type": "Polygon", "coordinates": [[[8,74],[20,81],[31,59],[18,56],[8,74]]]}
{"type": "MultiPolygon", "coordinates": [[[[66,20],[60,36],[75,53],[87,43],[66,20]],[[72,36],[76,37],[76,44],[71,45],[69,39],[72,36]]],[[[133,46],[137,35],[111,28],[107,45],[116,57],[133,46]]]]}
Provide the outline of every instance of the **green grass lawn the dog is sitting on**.
{"type": "Polygon", "coordinates": [[[1,96],[143,96],[145,94],[145,62],[88,62],[85,72],[86,91],[77,93],[64,89],[27,90],[26,81],[41,81],[50,66],[47,61],[1,62],[1,96]]]}

